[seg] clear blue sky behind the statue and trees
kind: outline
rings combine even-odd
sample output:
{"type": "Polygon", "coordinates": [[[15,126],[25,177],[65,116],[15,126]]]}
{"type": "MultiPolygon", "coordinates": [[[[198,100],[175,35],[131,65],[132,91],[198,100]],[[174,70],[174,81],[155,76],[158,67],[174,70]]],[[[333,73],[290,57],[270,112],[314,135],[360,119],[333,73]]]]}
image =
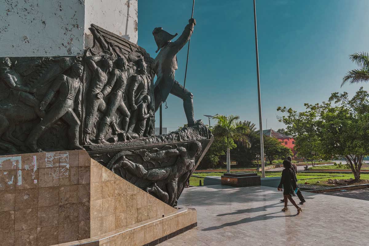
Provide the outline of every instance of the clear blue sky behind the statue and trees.
{"type": "MultiPolygon", "coordinates": [[[[192,0],[139,0],[138,45],[155,58],[152,30],[180,35],[192,0]]],[[[327,101],[356,67],[348,55],[369,51],[368,0],[256,0],[263,129],[278,129],[278,106],[303,110],[327,101]]],[[[239,115],[259,125],[252,0],[197,0],[186,88],[194,94],[195,119],[204,114],[239,115]]],[[[177,55],[176,80],[183,84],[187,46],[177,55]]],[[[169,95],[163,127],[186,123],[182,100],[169,95]]],[[[280,114],[279,114],[280,115],[280,114]]],[[[159,114],[156,115],[157,126],[159,114]]],[[[213,121],[211,124],[213,125],[213,121]]]]}

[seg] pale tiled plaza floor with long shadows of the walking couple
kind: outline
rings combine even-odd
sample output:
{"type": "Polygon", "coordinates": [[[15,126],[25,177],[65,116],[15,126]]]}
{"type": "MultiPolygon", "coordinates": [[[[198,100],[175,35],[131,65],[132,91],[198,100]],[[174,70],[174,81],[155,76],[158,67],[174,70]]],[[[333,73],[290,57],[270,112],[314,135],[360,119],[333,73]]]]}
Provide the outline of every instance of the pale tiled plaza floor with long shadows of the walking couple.
{"type": "Polygon", "coordinates": [[[291,204],[280,211],[276,188],[186,188],[179,207],[196,208],[198,226],[160,246],[369,245],[369,201],[303,194],[307,202],[296,216],[291,204]]]}

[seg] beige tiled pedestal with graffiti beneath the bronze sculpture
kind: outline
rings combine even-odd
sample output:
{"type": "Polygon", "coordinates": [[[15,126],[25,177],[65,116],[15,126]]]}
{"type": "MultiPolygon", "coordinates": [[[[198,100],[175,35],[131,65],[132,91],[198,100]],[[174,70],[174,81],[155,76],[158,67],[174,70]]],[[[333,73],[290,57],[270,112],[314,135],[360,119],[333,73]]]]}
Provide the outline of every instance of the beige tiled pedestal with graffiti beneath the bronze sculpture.
{"type": "Polygon", "coordinates": [[[85,150],[0,156],[0,246],[155,245],[196,222],[85,150]]]}

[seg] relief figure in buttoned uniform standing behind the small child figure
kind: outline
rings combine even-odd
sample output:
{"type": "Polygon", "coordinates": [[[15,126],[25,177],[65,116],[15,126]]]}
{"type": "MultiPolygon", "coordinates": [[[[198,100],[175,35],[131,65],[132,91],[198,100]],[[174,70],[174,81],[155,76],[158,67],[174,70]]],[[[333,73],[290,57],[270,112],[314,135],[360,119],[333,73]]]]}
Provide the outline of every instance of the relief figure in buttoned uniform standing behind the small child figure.
{"type": "MultiPolygon", "coordinates": [[[[128,89],[128,103],[130,104],[131,108],[131,118],[130,123],[128,125],[128,131],[133,132],[135,125],[138,121],[138,111],[137,107],[140,103],[142,103],[142,98],[145,95],[148,95],[151,82],[151,76],[147,74],[147,65],[145,61],[139,60],[138,62],[138,72],[137,75],[132,76],[132,82],[130,88],[128,89]]],[[[149,110],[154,111],[153,102],[150,101],[148,105],[149,110]]]]}

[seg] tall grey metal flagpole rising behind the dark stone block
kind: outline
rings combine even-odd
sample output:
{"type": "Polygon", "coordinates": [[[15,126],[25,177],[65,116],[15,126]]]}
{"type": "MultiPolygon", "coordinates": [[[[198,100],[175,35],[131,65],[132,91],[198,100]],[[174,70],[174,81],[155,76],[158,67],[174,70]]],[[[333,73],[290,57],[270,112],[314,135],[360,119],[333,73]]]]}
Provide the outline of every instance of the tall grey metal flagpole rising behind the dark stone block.
{"type": "Polygon", "coordinates": [[[259,101],[261,177],[265,178],[263,121],[262,121],[262,117],[261,117],[261,96],[260,96],[260,76],[259,76],[259,52],[258,52],[258,31],[257,31],[258,28],[256,27],[256,7],[255,7],[255,0],[254,0],[254,22],[255,22],[256,74],[258,76],[258,101],[259,101]]]}

